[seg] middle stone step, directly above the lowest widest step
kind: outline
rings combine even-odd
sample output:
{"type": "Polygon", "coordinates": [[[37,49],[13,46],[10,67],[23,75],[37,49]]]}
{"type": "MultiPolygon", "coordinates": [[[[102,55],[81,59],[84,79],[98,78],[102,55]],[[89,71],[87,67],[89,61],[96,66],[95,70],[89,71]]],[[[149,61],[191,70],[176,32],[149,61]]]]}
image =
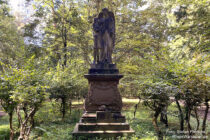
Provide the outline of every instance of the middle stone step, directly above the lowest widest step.
{"type": "Polygon", "coordinates": [[[78,123],[79,131],[129,130],[128,123],[78,123]]]}

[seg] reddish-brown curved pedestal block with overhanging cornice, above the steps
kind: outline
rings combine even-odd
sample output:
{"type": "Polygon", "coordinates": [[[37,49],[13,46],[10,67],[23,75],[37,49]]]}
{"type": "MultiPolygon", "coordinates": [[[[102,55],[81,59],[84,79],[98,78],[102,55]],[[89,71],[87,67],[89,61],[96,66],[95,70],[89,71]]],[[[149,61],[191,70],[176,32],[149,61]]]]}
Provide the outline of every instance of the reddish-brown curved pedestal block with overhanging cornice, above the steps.
{"type": "Polygon", "coordinates": [[[118,90],[118,74],[87,74],[89,91],[85,99],[85,110],[96,111],[121,111],[122,98],[118,90]]]}

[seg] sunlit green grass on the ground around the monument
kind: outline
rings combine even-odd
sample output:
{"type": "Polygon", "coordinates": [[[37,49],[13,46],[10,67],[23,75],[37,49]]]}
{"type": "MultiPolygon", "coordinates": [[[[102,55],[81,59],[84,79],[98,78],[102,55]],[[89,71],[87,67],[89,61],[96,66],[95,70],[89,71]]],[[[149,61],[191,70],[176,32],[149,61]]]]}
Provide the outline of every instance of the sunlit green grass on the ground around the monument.
{"type": "MultiPolygon", "coordinates": [[[[131,140],[155,140],[157,139],[156,132],[152,125],[152,115],[153,112],[140,104],[136,112],[136,118],[134,119],[134,106],[138,103],[136,99],[123,99],[124,106],[122,114],[126,116],[126,120],[130,123],[131,127],[135,130],[135,136],[129,138],[131,140]]],[[[73,102],[72,114],[70,116],[69,112],[66,114],[64,120],[61,119],[61,114],[59,112],[59,105],[56,102],[47,102],[43,107],[37,112],[35,116],[36,127],[31,133],[31,139],[33,140],[71,140],[71,132],[74,129],[76,123],[83,113],[82,101],[73,102]]],[[[171,104],[168,108],[169,115],[169,129],[166,129],[160,122],[159,127],[165,134],[164,139],[175,139],[173,135],[176,134],[176,130],[179,130],[179,120],[178,113],[175,104],[171,104]]],[[[192,127],[196,127],[195,118],[191,119],[192,127]]],[[[210,124],[210,122],[208,122],[210,124]]],[[[14,115],[14,125],[17,126],[17,118],[14,115]]],[[[207,125],[207,132],[210,131],[209,125],[207,125]]],[[[0,139],[8,139],[9,136],[9,122],[8,116],[0,118],[0,139]],[[3,135],[2,135],[3,133],[3,135]]],[[[17,136],[16,136],[17,138],[17,136]]],[[[121,138],[121,140],[127,140],[127,138],[121,138]]]]}

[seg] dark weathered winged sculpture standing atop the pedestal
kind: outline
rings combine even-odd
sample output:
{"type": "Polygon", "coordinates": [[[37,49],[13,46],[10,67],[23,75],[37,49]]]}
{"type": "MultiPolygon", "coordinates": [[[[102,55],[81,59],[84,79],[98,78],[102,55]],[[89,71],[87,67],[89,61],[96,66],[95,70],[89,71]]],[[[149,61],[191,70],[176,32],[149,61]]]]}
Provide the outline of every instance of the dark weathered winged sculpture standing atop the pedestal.
{"type": "Polygon", "coordinates": [[[112,52],[115,43],[114,14],[104,8],[94,19],[94,63],[112,63],[112,52]]]}

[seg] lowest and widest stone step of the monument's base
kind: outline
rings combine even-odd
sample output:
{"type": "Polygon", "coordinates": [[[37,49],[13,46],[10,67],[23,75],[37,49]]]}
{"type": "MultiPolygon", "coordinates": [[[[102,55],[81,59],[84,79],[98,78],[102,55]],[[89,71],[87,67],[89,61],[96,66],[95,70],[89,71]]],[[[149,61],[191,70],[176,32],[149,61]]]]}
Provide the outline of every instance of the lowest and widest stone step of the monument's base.
{"type": "MultiPolygon", "coordinates": [[[[111,138],[111,137],[119,137],[119,136],[131,136],[135,132],[130,128],[129,130],[106,130],[106,131],[79,131],[78,130],[78,124],[76,125],[74,131],[73,131],[73,136],[74,137],[86,137],[86,138],[91,138],[91,137],[100,137],[100,138],[111,138]]],[[[86,139],[85,138],[85,139],[86,139]]]]}

